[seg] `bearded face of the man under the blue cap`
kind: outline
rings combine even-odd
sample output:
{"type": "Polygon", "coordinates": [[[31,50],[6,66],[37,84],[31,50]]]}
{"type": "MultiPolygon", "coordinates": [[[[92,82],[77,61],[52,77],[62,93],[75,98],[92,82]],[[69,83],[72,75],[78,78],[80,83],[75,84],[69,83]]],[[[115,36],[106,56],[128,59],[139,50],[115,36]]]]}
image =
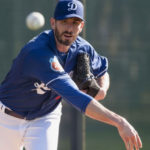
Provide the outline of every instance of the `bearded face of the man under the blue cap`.
{"type": "Polygon", "coordinates": [[[59,42],[59,44],[70,46],[82,31],[83,25],[84,22],[79,18],[53,20],[52,28],[56,41],[59,42]]]}

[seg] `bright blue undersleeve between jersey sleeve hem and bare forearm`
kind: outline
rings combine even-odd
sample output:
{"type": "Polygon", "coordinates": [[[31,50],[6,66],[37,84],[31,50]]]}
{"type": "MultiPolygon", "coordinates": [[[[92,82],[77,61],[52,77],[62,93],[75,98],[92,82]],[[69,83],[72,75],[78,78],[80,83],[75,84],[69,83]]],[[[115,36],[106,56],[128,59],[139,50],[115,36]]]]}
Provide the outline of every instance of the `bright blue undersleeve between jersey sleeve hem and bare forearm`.
{"type": "Polygon", "coordinates": [[[81,92],[70,76],[66,75],[51,82],[48,87],[52,88],[81,112],[85,112],[87,105],[93,97],[81,92]]]}

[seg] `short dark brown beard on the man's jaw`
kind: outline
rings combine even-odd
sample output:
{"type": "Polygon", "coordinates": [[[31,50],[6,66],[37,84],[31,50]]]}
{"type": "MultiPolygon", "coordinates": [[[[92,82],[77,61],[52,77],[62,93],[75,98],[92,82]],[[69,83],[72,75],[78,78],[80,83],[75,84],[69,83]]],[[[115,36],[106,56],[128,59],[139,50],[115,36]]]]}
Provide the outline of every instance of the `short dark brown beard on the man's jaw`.
{"type": "Polygon", "coordinates": [[[55,28],[54,33],[55,33],[55,37],[56,37],[57,41],[60,44],[65,45],[65,46],[70,46],[75,41],[75,39],[76,39],[76,37],[73,35],[72,32],[64,31],[63,33],[60,33],[58,31],[57,27],[55,28]],[[73,37],[72,40],[71,39],[70,40],[69,39],[64,39],[63,40],[62,37],[63,37],[64,34],[72,36],[73,37]]]}

